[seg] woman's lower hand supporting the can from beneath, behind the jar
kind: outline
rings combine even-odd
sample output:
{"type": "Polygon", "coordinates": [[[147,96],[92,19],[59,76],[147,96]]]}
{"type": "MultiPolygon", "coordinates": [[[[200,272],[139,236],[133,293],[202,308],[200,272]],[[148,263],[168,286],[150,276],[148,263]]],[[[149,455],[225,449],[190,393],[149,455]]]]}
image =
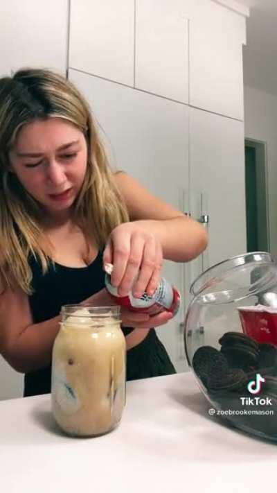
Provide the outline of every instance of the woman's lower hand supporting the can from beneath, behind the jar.
{"type": "MultiPolygon", "coordinates": [[[[91,306],[116,306],[114,300],[111,299],[106,288],[101,289],[95,295],[89,297],[88,300],[80,303],[84,306],[90,304],[91,306]]],[[[136,329],[151,329],[152,327],[160,327],[171,320],[172,313],[163,311],[157,313],[157,315],[148,315],[148,313],[140,313],[136,311],[130,311],[127,308],[120,307],[121,325],[123,327],[135,327],[136,329]]]]}

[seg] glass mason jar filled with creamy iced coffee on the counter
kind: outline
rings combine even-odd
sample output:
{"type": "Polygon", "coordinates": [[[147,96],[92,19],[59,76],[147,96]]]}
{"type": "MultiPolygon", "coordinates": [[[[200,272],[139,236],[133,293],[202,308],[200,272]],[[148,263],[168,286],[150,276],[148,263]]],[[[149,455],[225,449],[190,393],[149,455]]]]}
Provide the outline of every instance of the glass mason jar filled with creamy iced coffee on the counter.
{"type": "Polygon", "coordinates": [[[125,406],[125,337],[119,306],[62,306],[52,358],[53,415],[69,435],[96,436],[125,406]]]}

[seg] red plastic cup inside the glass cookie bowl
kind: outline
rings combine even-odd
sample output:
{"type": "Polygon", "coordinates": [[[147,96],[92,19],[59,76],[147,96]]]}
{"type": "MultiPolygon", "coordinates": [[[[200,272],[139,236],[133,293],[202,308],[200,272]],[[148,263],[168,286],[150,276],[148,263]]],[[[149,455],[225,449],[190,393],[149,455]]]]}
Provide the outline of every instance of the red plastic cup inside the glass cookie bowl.
{"type": "Polygon", "coordinates": [[[257,343],[277,346],[277,313],[261,309],[238,308],[244,334],[257,343]]]}

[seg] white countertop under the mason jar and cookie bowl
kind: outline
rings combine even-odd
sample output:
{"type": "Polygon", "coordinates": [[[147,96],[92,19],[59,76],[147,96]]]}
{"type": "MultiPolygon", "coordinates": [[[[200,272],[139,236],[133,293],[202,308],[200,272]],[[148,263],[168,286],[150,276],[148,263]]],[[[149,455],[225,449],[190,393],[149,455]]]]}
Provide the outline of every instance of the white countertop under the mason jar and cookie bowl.
{"type": "Polygon", "coordinates": [[[3,493],[259,492],[276,481],[277,444],[208,415],[193,375],[127,383],[116,430],[69,438],[50,396],[0,402],[3,493]]]}

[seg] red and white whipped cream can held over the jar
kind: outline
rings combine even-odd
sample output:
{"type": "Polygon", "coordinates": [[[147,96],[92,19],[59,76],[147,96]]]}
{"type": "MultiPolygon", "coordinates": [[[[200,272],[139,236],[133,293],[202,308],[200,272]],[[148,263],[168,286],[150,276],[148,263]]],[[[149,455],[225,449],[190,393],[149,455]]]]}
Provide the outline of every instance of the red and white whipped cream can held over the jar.
{"type": "Polygon", "coordinates": [[[162,311],[170,311],[173,315],[176,315],[181,304],[181,296],[177,288],[171,286],[164,277],[161,278],[152,296],[143,293],[141,297],[136,298],[132,295],[132,291],[126,296],[119,296],[117,288],[111,284],[112,264],[106,263],[104,268],[107,291],[112,300],[120,306],[125,306],[131,311],[149,313],[150,315],[156,315],[162,311]]]}

